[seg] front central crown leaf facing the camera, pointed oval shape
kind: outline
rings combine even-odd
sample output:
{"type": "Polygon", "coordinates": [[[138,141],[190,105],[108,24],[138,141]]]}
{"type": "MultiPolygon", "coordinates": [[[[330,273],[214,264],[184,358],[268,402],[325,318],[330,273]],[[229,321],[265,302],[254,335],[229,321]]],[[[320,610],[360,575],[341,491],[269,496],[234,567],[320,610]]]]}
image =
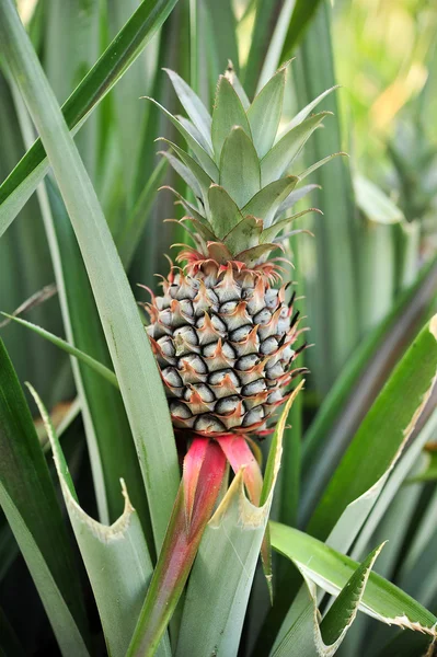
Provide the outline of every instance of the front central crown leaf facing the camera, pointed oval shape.
{"type": "Polygon", "coordinates": [[[232,129],[220,159],[220,185],[242,208],[261,188],[258,157],[252,140],[241,127],[232,129]]]}

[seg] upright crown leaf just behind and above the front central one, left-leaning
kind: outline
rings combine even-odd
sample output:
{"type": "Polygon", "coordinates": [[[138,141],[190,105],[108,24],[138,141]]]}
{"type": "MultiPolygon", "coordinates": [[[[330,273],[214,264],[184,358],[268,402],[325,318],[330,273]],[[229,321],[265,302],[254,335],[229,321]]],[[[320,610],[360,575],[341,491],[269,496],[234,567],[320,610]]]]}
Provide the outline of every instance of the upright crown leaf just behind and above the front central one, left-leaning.
{"type": "Polygon", "coordinates": [[[211,137],[216,162],[220,162],[223,143],[234,126],[243,128],[251,137],[251,128],[237,91],[225,76],[220,76],[217,85],[212,112],[211,137]]]}

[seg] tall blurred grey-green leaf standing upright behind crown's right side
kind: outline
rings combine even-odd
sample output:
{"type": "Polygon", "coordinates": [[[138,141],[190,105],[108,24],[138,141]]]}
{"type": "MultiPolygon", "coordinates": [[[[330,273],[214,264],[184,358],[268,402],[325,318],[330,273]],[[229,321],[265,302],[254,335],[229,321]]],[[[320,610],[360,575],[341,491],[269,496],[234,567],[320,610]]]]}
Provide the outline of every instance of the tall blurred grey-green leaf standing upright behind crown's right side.
{"type": "MultiPolygon", "coordinates": [[[[308,105],[326,88],[335,87],[331,7],[325,1],[303,1],[299,7],[303,13],[317,9],[294,67],[299,105],[308,105]]],[[[296,26],[300,31],[300,24],[296,23],[296,26]]],[[[317,130],[306,147],[304,158],[311,163],[342,150],[336,94],[323,100],[323,108],[333,112],[334,116],[329,128],[317,130]]],[[[308,357],[318,389],[326,393],[359,341],[358,222],[350,172],[343,158],[335,158],[329,166],[320,168],[311,182],[321,185],[312,203],[321,208],[325,218],[317,224],[315,253],[311,254],[317,265],[315,277],[307,293],[308,313],[312,318],[310,342],[315,346],[308,357]]]]}

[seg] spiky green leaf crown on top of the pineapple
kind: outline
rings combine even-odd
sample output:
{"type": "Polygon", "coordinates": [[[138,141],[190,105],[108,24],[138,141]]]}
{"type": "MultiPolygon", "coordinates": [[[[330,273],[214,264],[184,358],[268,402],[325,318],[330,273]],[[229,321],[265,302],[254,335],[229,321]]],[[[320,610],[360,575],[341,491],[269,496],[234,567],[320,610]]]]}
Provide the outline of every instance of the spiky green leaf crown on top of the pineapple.
{"type": "Polygon", "coordinates": [[[219,263],[237,260],[256,266],[280,246],[290,234],[283,231],[304,214],[283,218],[314,186],[297,185],[334,157],[317,162],[299,175],[286,175],[306,141],[330,114],[310,115],[332,89],[307,105],[278,135],[286,65],[252,103],[229,66],[217,84],[212,116],[177,73],[165,70],[189,119],[173,116],[150,100],[177,128],[192,153],[164,139],[174,154],[163,154],[191,187],[197,203],[195,207],[175,193],[187,212],[183,221],[189,220],[195,228],[199,255],[219,263]]]}

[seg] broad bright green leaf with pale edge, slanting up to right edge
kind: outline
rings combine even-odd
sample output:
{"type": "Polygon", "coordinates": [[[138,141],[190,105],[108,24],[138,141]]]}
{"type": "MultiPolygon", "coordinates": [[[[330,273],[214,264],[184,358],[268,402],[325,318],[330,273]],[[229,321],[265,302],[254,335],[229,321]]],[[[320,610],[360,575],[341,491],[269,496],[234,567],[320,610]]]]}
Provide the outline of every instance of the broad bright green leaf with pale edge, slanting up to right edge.
{"type": "Polygon", "coordinates": [[[436,376],[437,315],[421,331],[363,420],[311,518],[313,535],[330,535],[330,544],[349,548],[401,456],[436,376]]]}

